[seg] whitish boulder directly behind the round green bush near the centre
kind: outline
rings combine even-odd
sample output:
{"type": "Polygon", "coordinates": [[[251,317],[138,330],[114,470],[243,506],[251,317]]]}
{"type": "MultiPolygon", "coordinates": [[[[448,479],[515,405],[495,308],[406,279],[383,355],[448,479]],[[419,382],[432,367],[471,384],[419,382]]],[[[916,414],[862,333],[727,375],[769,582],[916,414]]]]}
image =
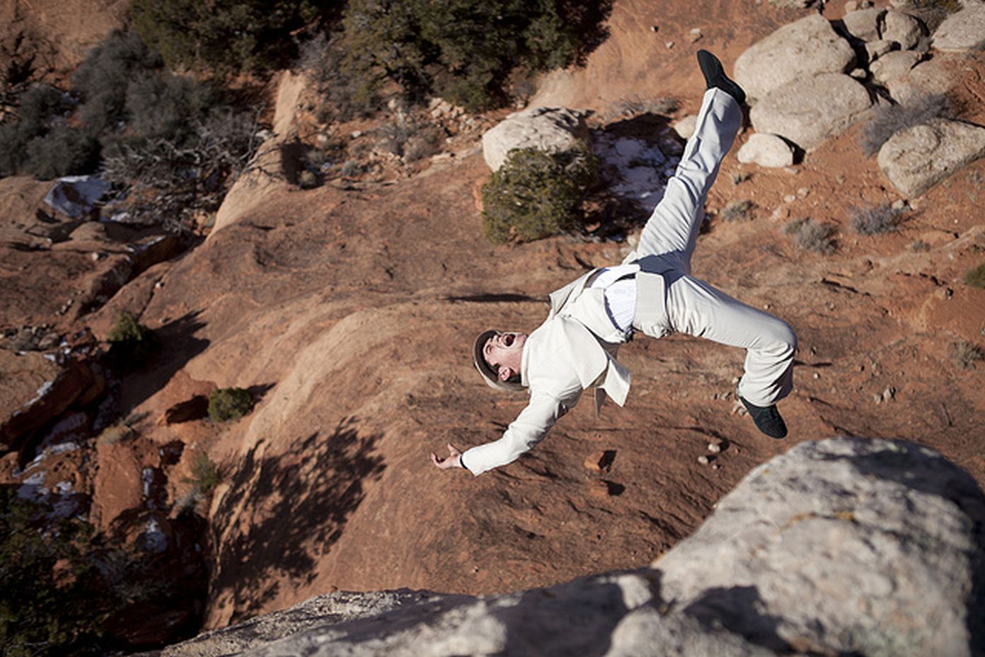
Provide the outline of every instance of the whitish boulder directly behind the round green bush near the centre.
{"type": "Polygon", "coordinates": [[[483,157],[493,171],[513,149],[533,148],[557,153],[588,140],[581,112],[558,107],[532,107],[510,114],[483,135],[483,157]]]}

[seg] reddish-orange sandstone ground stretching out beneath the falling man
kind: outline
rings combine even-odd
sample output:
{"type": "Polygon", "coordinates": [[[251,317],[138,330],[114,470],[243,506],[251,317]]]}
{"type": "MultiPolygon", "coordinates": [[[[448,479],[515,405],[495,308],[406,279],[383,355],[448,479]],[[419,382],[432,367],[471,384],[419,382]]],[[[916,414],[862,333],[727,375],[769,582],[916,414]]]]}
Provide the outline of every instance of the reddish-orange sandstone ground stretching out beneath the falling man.
{"type": "MultiPolygon", "coordinates": [[[[545,80],[533,101],[587,109],[592,127],[653,139],[697,109],[697,48],[731,69],[811,12],[617,2],[609,39],[584,68],[545,80]],[[679,99],[677,113],[644,116],[667,97],[679,99]]],[[[830,21],[843,15],[840,5],[823,10],[830,21]]],[[[985,123],[981,51],[940,59],[960,117],[985,123]]],[[[290,168],[281,147],[307,134],[304,93],[302,79],[283,77],[265,165],[179,257],[156,246],[140,259],[138,247],[160,235],[52,215],[42,201],[50,184],[0,180],[9,450],[0,479],[36,487],[28,493],[69,482],[100,530],[136,544],[152,527],[177,531],[184,480],[195,454],[208,454],[224,481],[199,506],[209,527],[206,627],[335,590],[475,595],[640,567],[755,466],[835,434],[918,441],[985,481],[985,363],[955,358],[956,345],[985,346],[985,292],[961,281],[985,258],[985,161],[904,197],[862,151],[865,117],[779,168],[739,162],[757,134],[750,126],[709,197],[693,272],[796,330],[796,389],[781,407],[791,435],[764,438],[738,412],[737,351],[639,339],[621,351],[633,372],[624,409],[596,419],[584,404],[529,456],[473,479],[434,470],[428,453],[493,439],[524,405],[475,374],[473,337],[490,325],[534,328],[551,291],[620,260],[626,244],[486,241],[480,137],[501,114],[460,124],[433,159],[373,178],[301,189],[269,175],[290,168]],[[746,221],[725,221],[735,201],[752,202],[746,221]],[[899,202],[898,230],[850,228],[854,208],[899,202]],[[833,228],[833,252],[784,232],[809,217],[833,228]],[[89,356],[123,310],[161,347],[119,380],[89,356]],[[50,394],[59,386],[66,392],[50,394]],[[228,386],[258,400],[242,420],[177,412],[228,386]],[[127,419],[122,434],[100,438],[117,419],[127,419]]]]}

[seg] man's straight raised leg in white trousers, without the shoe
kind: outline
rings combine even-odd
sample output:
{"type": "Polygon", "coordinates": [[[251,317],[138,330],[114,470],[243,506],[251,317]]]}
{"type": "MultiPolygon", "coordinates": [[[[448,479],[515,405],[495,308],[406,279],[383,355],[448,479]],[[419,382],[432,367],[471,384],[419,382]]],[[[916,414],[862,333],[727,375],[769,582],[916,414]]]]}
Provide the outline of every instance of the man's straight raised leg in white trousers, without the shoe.
{"type": "Polygon", "coordinates": [[[674,254],[667,264],[690,271],[690,254],[704,219],[705,198],[741,124],[742,109],[735,99],[719,89],[704,93],[681,164],[643,228],[634,258],[674,254]]]}

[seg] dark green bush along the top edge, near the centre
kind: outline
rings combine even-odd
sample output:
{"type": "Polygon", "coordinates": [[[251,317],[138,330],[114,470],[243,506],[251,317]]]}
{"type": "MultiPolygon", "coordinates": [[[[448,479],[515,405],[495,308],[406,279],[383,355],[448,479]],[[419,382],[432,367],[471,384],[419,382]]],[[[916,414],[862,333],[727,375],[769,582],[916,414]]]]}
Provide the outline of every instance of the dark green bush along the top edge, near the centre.
{"type": "Polygon", "coordinates": [[[605,2],[352,0],[343,19],[346,66],[366,99],[384,81],[470,111],[501,104],[510,72],[576,61],[598,38],[605,2]]]}

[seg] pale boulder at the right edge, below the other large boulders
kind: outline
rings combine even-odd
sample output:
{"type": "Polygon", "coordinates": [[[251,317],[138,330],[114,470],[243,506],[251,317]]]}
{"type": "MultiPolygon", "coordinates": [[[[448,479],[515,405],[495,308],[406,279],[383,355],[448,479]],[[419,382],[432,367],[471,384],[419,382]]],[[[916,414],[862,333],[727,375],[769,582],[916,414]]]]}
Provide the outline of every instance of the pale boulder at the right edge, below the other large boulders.
{"type": "Polygon", "coordinates": [[[900,130],[879,150],[879,167],[912,198],[985,156],[985,128],[944,118],[900,130]]]}

